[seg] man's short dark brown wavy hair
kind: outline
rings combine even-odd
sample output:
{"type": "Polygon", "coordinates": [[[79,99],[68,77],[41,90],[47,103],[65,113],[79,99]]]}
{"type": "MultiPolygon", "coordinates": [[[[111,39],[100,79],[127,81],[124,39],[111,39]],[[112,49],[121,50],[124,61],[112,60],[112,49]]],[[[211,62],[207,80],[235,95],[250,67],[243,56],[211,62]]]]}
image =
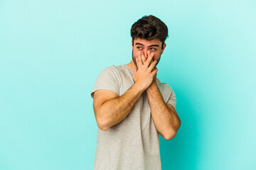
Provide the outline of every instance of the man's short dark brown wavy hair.
{"type": "Polygon", "coordinates": [[[136,38],[146,40],[159,39],[162,42],[162,48],[166,38],[168,38],[168,28],[166,24],[156,16],[143,16],[132,25],[131,28],[132,43],[136,38]]]}

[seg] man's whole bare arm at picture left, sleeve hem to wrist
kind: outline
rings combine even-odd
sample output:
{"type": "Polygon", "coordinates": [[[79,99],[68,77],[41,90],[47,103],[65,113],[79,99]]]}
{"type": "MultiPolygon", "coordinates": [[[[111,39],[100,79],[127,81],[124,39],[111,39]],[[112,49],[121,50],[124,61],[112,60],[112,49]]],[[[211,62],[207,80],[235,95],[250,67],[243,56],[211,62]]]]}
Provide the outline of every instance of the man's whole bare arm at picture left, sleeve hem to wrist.
{"type": "Polygon", "coordinates": [[[93,108],[99,128],[108,130],[113,125],[117,125],[117,123],[124,120],[143,91],[139,84],[136,83],[122,96],[118,96],[113,91],[95,91],[93,108]]]}

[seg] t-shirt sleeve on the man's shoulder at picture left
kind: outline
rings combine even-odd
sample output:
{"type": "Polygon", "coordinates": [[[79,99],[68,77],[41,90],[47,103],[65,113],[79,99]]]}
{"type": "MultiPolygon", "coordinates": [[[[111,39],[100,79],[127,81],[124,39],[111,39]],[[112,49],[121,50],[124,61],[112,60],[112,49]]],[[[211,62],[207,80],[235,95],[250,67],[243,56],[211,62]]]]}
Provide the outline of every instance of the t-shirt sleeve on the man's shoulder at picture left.
{"type": "Polygon", "coordinates": [[[119,81],[119,73],[117,69],[114,68],[114,65],[103,69],[96,79],[95,86],[93,86],[91,92],[91,97],[93,98],[95,91],[100,89],[114,91],[119,95],[119,81]]]}

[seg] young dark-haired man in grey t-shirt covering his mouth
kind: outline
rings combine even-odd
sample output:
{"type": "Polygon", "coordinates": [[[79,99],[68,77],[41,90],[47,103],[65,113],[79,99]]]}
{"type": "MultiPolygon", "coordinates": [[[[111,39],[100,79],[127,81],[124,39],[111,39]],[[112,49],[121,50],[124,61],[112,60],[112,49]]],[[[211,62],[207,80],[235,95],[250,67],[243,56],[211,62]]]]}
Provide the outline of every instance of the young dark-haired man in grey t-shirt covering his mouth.
{"type": "Polygon", "coordinates": [[[159,134],[171,140],[181,125],[174,91],[156,78],[167,26],[144,16],[131,35],[132,61],[105,68],[92,89],[99,127],[95,170],[161,169],[159,134]]]}

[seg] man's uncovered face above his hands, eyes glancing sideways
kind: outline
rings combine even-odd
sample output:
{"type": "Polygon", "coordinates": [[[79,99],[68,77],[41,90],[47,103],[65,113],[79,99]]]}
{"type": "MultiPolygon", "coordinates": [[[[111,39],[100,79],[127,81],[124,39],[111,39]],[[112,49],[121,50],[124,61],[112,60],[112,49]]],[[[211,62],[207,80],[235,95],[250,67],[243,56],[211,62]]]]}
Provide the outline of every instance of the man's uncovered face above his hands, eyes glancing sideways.
{"type": "Polygon", "coordinates": [[[149,51],[150,53],[154,52],[154,57],[151,62],[156,60],[158,64],[161,54],[164,52],[164,48],[166,47],[166,44],[164,43],[163,48],[161,48],[161,46],[162,46],[162,42],[159,39],[148,41],[145,39],[135,38],[134,44],[132,44],[132,60],[135,66],[137,67],[136,58],[139,56],[139,52],[142,52],[144,57],[147,59],[149,57],[147,51],[149,51]]]}

